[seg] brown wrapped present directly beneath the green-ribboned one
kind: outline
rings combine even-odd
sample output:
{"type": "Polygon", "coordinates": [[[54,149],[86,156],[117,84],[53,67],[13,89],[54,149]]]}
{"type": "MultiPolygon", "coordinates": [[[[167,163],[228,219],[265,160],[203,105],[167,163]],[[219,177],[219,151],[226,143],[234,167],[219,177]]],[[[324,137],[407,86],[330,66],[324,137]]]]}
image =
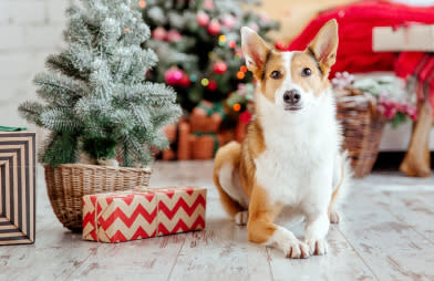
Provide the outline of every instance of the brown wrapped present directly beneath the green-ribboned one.
{"type": "Polygon", "coordinates": [[[192,159],[211,159],[218,148],[225,144],[220,134],[195,133],[190,135],[192,159]]]}

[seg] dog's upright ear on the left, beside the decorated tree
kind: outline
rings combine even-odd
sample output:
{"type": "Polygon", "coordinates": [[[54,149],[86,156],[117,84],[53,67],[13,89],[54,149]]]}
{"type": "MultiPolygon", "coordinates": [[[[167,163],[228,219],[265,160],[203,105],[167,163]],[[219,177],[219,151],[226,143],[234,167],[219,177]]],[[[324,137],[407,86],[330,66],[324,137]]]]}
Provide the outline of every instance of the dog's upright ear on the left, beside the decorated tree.
{"type": "Polygon", "coordinates": [[[255,31],[246,27],[241,28],[241,48],[247,67],[260,80],[271,49],[255,31]]]}

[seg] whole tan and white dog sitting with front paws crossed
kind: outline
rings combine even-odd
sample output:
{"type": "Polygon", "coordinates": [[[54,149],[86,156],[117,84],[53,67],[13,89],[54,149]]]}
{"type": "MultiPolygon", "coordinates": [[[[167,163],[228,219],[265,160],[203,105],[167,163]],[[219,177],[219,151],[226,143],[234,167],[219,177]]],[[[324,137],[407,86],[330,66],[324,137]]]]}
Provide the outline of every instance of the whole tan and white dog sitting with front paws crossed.
{"type": "Polygon", "coordinates": [[[303,52],[277,52],[241,29],[246,64],[257,80],[255,116],[246,140],[221,147],[214,181],[236,223],[252,242],[275,246],[289,258],[323,254],[330,222],[339,222],[338,192],[351,169],[328,75],[338,49],[329,21],[303,52]],[[275,223],[282,212],[306,219],[304,241],[275,223]]]}

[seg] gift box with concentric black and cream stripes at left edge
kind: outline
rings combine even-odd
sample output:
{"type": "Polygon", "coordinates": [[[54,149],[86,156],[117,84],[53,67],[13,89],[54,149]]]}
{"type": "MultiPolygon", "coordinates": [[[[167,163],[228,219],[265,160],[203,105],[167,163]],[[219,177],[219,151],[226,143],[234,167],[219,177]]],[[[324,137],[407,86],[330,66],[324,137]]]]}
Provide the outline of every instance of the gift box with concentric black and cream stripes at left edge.
{"type": "Polygon", "coordinates": [[[34,242],[35,133],[0,126],[0,246],[34,242]]]}

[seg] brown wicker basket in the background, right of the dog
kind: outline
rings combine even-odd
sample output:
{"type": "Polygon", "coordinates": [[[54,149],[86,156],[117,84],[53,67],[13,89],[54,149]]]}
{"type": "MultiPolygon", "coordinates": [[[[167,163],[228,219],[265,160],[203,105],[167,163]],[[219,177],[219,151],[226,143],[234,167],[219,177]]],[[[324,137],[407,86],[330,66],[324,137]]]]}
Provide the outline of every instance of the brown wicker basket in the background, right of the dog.
{"type": "Polygon", "coordinates": [[[342,96],[337,102],[344,135],[343,148],[349,152],[354,176],[364,177],[371,173],[379,155],[385,119],[376,113],[372,100],[364,95],[342,96]]]}

